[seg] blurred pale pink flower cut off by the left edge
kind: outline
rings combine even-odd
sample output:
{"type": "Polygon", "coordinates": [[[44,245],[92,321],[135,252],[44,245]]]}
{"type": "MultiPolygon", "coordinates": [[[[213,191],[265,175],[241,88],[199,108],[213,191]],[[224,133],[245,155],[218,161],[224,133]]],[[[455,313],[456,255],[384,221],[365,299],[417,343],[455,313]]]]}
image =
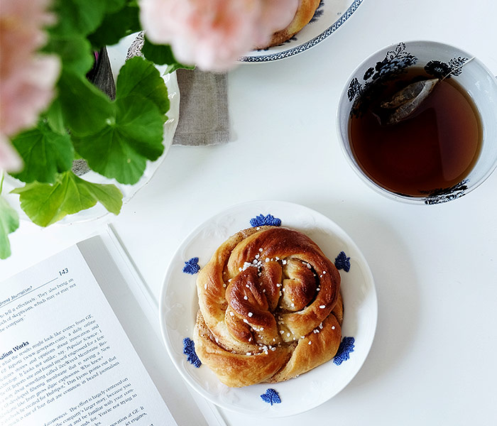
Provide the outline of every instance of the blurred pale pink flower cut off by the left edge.
{"type": "Polygon", "coordinates": [[[60,61],[37,53],[53,23],[48,0],[0,0],[0,168],[18,170],[9,136],[38,121],[55,94],[60,61]]]}

